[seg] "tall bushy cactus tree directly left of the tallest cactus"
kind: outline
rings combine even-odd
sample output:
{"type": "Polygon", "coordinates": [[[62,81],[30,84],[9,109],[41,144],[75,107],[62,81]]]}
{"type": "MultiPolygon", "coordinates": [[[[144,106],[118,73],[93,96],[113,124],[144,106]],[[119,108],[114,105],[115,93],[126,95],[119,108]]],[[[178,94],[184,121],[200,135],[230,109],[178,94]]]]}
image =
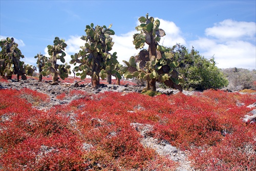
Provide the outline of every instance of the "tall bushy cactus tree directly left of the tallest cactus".
{"type": "Polygon", "coordinates": [[[115,34],[111,27],[112,25],[109,28],[97,25],[94,28],[93,23],[90,26],[87,25],[84,30],[87,35],[81,36],[82,40],[87,41],[86,44],[80,47],[79,53],[71,55],[70,63],[74,66],[79,63],[79,66],[75,67],[76,75],[81,79],[86,78],[87,75],[91,76],[94,89],[99,87],[100,78],[105,79],[110,74],[121,78],[115,70],[118,65],[116,52],[113,55],[109,53],[114,45],[111,35],[115,34]]]}

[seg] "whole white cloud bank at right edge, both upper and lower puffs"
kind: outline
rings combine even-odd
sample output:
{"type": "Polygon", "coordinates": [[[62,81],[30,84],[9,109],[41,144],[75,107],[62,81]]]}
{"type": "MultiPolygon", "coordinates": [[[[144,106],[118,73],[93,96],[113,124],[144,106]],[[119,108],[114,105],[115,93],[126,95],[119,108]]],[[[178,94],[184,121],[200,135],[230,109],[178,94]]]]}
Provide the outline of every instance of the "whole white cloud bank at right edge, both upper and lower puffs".
{"type": "Polygon", "coordinates": [[[255,23],[230,19],[205,29],[208,37],[189,42],[206,58],[215,57],[219,68],[256,69],[255,23]]]}

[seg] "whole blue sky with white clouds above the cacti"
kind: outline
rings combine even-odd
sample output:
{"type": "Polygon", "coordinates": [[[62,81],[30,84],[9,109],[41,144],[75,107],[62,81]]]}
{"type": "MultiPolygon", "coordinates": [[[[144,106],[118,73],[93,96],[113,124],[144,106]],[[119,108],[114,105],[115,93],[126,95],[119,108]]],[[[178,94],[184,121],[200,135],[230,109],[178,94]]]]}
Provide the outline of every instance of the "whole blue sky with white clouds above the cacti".
{"type": "Polygon", "coordinates": [[[219,68],[256,69],[256,1],[4,1],[0,0],[0,36],[14,37],[36,66],[38,53],[57,36],[65,39],[66,61],[79,52],[86,25],[115,31],[113,50],[118,60],[129,60],[139,50],[132,43],[138,18],[148,13],[160,19],[166,33],[160,44],[192,46],[205,58],[215,57],[219,68]]]}

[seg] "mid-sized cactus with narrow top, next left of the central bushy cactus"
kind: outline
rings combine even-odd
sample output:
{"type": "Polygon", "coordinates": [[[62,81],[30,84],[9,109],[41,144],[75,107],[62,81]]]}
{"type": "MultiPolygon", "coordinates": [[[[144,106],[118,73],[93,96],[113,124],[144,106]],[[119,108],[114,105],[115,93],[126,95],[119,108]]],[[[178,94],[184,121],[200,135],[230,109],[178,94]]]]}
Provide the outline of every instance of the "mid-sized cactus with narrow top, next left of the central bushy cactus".
{"type": "Polygon", "coordinates": [[[71,74],[70,66],[68,63],[65,63],[65,56],[66,53],[64,52],[65,48],[67,47],[67,44],[65,43],[65,40],[59,39],[58,37],[55,37],[53,41],[54,45],[48,45],[48,54],[50,55],[50,58],[45,62],[45,66],[43,67],[40,74],[43,76],[49,75],[50,73],[53,74],[52,80],[53,82],[58,81],[58,75],[61,79],[65,80],[65,78],[68,78],[69,74],[71,74]],[[62,63],[65,63],[65,65],[57,64],[57,59],[60,59],[62,63]]]}

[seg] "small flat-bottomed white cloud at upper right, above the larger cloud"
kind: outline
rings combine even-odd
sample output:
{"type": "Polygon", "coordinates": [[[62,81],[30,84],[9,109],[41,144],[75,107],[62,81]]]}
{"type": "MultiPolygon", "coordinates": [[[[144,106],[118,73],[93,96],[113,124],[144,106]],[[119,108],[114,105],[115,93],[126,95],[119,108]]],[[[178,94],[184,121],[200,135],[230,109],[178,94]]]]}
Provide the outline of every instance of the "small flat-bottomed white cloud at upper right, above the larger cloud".
{"type": "Polygon", "coordinates": [[[216,37],[220,40],[249,38],[255,40],[256,25],[254,22],[237,22],[231,19],[215,23],[214,27],[207,28],[207,36],[216,37]]]}

